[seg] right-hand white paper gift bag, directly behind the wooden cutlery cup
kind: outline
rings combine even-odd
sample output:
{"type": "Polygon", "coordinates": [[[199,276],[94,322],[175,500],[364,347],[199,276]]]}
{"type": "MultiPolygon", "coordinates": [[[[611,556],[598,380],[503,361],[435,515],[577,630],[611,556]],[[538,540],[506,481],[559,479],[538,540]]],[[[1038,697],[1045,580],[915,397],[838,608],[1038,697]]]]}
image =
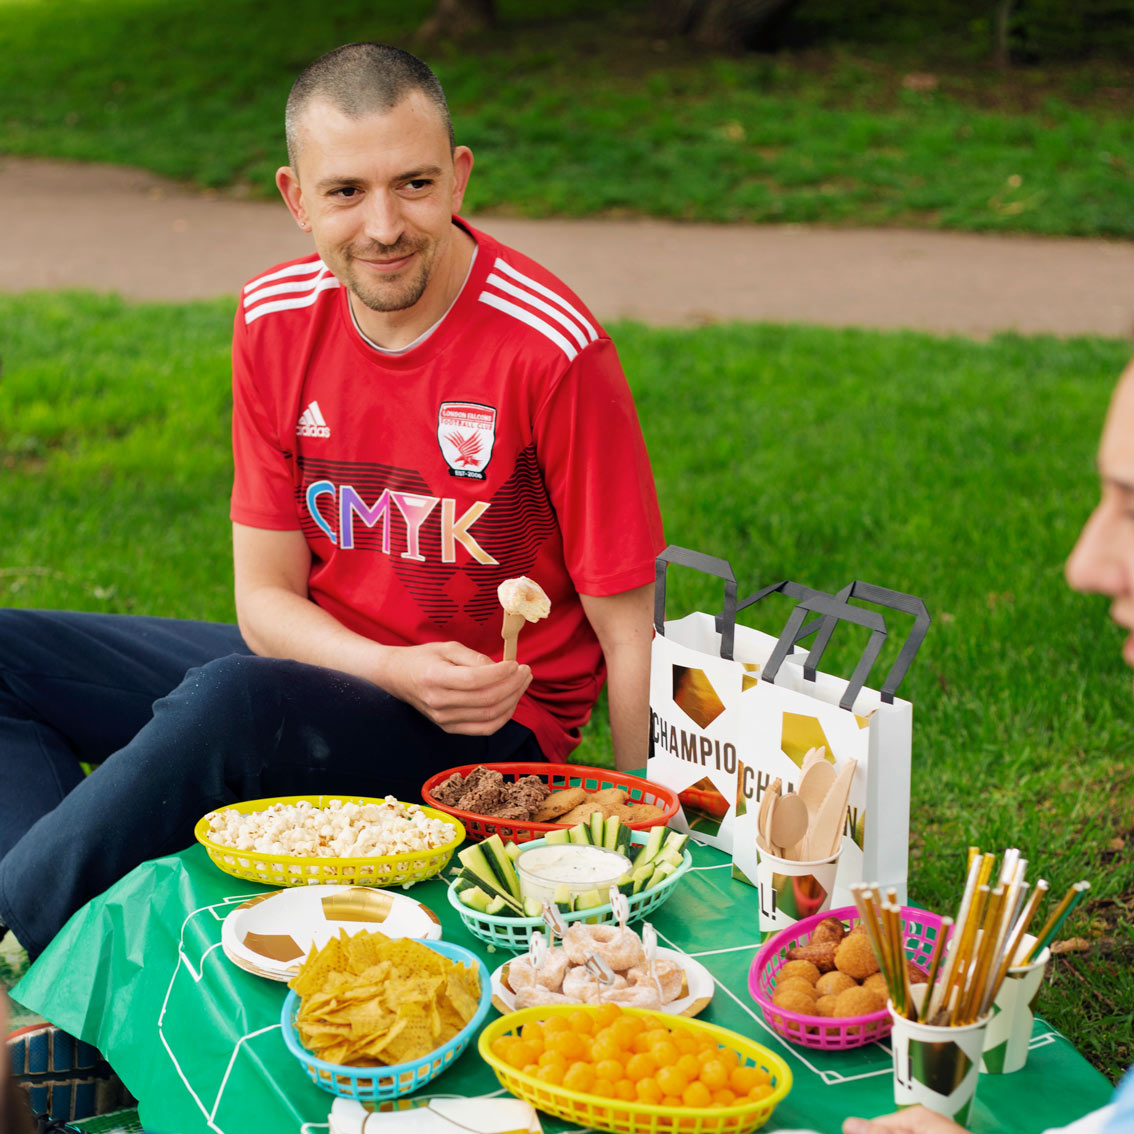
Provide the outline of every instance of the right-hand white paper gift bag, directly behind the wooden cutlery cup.
{"type": "Polygon", "coordinates": [[[854,761],[841,830],[835,832],[835,841],[822,855],[838,855],[831,904],[850,905],[849,887],[862,881],[878,882],[883,889],[892,887],[905,902],[913,706],[895,696],[895,691],[928,627],[929,615],[920,599],[857,581],[838,595],[811,592],[799,600],[760,679],[737,699],[754,771],[742,775],[737,784],[734,877],[756,882],[756,822],[768,785],[778,778],[781,794],[794,790],[806,752],[823,747],[836,773],[854,761]],[[865,682],[886,640],[886,621],[878,611],[854,606],[850,599],[914,617],[881,689],[870,688],[865,682]],[[804,619],[816,613],[822,623],[801,672],[797,665],[785,662],[789,658],[798,661],[798,633],[804,619]],[[849,679],[819,669],[836,627],[846,623],[870,631],[849,679]],[[785,671],[786,679],[781,679],[785,671]]]}

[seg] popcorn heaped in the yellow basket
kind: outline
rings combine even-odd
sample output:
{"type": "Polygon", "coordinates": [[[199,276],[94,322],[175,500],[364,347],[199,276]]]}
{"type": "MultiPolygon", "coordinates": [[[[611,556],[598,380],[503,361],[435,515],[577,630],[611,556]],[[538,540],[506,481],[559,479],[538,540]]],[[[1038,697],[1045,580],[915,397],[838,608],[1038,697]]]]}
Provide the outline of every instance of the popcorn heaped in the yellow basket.
{"type": "Polygon", "coordinates": [[[421,807],[388,795],[381,804],[331,799],[274,803],[242,814],[221,807],[205,815],[209,838],[220,846],[303,858],[370,858],[433,850],[452,841],[452,827],[421,807]]]}

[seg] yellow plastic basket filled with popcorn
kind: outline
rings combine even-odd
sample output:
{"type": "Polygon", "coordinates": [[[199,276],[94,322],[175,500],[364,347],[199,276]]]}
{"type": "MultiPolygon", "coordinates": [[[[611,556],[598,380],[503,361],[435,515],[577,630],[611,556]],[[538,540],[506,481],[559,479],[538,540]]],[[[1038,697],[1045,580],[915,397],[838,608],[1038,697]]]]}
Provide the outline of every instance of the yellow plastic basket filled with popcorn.
{"type": "MultiPolygon", "coordinates": [[[[357,804],[386,802],[366,796],[285,795],[272,799],[232,803],[228,809],[217,810],[231,810],[246,815],[255,811],[266,811],[272,804],[295,804],[301,799],[306,799],[313,807],[327,807],[332,799],[357,804]]],[[[204,815],[197,820],[193,835],[209,853],[209,857],[226,874],[262,882],[264,886],[316,886],[321,882],[338,882],[344,886],[409,887],[445,870],[452,857],[452,852],[465,839],[465,828],[452,815],[434,811],[432,807],[421,807],[421,810],[430,819],[439,819],[452,828],[452,839],[449,843],[431,850],[375,855],[370,858],[307,858],[299,855],[261,854],[257,850],[237,850],[234,847],[221,846],[209,838],[209,823],[204,815]]]]}

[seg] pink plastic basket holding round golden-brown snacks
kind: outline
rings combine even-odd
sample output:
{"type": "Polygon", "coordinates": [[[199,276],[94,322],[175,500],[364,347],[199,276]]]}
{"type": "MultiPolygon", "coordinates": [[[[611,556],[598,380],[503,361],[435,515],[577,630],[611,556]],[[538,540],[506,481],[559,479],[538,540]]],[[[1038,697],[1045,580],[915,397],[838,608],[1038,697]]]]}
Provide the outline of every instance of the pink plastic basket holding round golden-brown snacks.
{"type": "MultiPolygon", "coordinates": [[[[797,945],[806,945],[811,932],[828,917],[838,917],[847,929],[854,929],[862,920],[855,906],[828,909],[777,933],[756,954],[748,970],[748,992],[760,1005],[768,1026],[792,1043],[823,1051],[843,1051],[861,1048],[865,1043],[881,1040],[890,1032],[890,1014],[882,1008],[868,1016],[847,1016],[832,1019],[828,1016],[804,1016],[772,1004],[776,974],[788,960],[788,950],[797,945]]],[[[941,919],[928,909],[916,906],[902,907],[902,929],[906,956],[919,967],[928,968],[933,946],[941,932],[941,919]]]]}

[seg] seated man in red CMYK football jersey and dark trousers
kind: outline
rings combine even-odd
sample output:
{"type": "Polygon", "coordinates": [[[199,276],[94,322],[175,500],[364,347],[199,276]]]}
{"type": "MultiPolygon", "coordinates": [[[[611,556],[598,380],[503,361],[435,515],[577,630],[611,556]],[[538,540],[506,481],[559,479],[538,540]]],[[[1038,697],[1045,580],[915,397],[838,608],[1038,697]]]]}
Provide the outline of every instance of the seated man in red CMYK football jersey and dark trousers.
{"type": "Polygon", "coordinates": [[[239,627],[0,612],[0,923],[32,956],[225,804],[562,761],[604,680],[618,767],[645,763],[663,540],[609,337],[460,219],[473,155],[413,56],[316,60],[287,138],[315,253],[236,313],[239,627]],[[521,575],[551,613],[517,663],[497,587],[521,575]]]}

